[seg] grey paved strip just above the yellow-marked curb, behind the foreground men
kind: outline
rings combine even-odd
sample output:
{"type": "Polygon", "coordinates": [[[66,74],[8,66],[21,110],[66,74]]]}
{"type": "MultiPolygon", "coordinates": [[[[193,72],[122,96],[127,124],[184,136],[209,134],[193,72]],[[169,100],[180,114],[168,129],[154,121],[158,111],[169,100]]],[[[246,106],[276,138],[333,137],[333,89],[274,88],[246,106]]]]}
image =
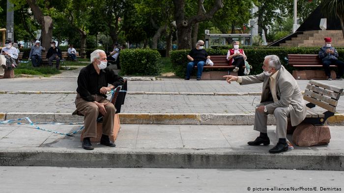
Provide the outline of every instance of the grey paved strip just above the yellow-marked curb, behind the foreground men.
{"type": "MultiPolygon", "coordinates": [[[[1,94],[2,113],[72,113],[75,94],[1,94]]],[[[127,95],[121,113],[250,114],[260,96],[127,95]]],[[[336,108],[344,113],[344,97],[336,108]]],[[[0,116],[1,119],[1,116],[0,116]]]]}

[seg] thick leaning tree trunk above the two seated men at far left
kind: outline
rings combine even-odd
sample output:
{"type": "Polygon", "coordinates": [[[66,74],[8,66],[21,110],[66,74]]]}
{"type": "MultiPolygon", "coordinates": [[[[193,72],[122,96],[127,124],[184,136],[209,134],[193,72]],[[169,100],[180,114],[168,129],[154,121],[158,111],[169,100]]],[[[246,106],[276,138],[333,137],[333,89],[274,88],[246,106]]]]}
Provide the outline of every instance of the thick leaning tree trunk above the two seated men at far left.
{"type": "Polygon", "coordinates": [[[53,37],[53,19],[50,16],[44,16],[40,7],[37,5],[36,0],[27,0],[34,19],[41,25],[42,29],[42,47],[50,48],[50,42],[53,37]]]}

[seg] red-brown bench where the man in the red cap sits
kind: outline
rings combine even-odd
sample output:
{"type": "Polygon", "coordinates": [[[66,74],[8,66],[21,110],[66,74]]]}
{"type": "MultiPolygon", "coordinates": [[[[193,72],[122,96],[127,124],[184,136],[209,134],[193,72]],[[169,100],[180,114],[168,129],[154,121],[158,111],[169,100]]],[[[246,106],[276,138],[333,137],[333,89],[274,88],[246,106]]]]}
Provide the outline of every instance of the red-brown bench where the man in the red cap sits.
{"type": "MultiPolygon", "coordinates": [[[[300,68],[315,68],[321,69],[322,62],[317,54],[288,54],[288,65],[295,69],[300,68]]],[[[336,67],[336,65],[330,65],[330,67],[336,67]]],[[[296,70],[292,72],[293,77],[297,80],[326,80],[328,77],[323,69],[321,70],[296,70]]],[[[332,79],[336,78],[336,72],[331,71],[332,79]]]]}

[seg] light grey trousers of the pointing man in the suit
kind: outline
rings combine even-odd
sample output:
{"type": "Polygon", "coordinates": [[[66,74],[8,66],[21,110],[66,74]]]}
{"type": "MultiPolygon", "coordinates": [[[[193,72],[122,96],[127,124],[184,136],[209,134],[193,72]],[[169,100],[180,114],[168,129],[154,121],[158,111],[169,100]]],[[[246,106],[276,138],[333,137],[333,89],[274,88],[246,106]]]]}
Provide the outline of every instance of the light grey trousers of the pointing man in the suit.
{"type": "MultiPolygon", "coordinates": [[[[257,105],[267,105],[273,103],[273,101],[269,102],[262,102],[257,105]]],[[[276,137],[278,138],[286,138],[287,137],[287,124],[288,124],[288,117],[290,117],[290,108],[289,107],[278,107],[274,111],[274,117],[276,119],[276,137]]],[[[259,113],[256,109],[255,113],[255,126],[254,130],[267,133],[267,114],[259,113]]]]}

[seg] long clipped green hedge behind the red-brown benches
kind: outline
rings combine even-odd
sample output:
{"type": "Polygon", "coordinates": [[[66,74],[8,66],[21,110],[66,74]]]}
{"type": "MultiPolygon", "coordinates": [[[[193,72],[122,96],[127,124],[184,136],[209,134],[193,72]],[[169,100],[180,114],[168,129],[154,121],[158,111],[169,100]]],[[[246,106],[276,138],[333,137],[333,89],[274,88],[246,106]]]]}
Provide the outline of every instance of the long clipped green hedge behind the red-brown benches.
{"type": "MultiPolygon", "coordinates": [[[[318,48],[286,48],[286,47],[265,47],[265,48],[246,48],[244,49],[247,56],[247,61],[252,66],[251,74],[258,74],[262,72],[261,66],[266,55],[277,55],[282,65],[291,73],[295,70],[293,67],[287,65],[288,54],[318,54],[320,47],[318,48]]],[[[337,49],[339,53],[339,59],[344,61],[344,49],[337,49]]],[[[186,65],[189,62],[187,55],[190,50],[175,50],[171,51],[171,61],[173,65],[173,72],[179,76],[184,77],[186,73],[186,65]]],[[[228,49],[206,49],[209,55],[227,55],[228,49]]],[[[227,71],[226,69],[204,69],[204,71],[227,71]]],[[[194,71],[195,73],[196,71],[194,71]]]]}

